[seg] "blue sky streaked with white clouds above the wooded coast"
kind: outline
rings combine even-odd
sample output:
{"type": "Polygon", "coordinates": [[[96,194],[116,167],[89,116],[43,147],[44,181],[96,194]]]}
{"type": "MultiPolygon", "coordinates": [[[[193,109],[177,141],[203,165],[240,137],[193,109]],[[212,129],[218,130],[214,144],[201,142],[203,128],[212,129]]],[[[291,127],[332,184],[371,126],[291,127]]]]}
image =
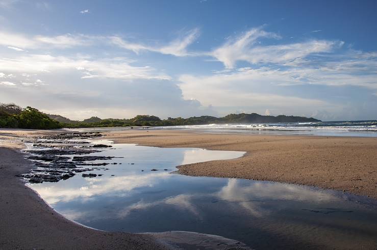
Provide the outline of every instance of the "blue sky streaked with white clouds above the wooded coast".
{"type": "Polygon", "coordinates": [[[377,1],[0,0],[0,102],[377,119],[377,1]]]}

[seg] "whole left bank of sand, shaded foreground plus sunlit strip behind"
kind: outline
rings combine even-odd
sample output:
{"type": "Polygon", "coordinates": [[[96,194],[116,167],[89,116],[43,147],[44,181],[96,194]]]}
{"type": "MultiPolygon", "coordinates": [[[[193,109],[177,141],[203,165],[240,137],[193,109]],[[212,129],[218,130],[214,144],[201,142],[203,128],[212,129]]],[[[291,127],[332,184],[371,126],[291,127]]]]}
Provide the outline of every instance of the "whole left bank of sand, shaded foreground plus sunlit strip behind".
{"type": "Polygon", "coordinates": [[[64,217],[19,177],[34,163],[20,152],[23,138],[51,135],[62,130],[0,130],[0,249],[250,249],[217,235],[167,231],[159,233],[109,232],[64,217]]]}

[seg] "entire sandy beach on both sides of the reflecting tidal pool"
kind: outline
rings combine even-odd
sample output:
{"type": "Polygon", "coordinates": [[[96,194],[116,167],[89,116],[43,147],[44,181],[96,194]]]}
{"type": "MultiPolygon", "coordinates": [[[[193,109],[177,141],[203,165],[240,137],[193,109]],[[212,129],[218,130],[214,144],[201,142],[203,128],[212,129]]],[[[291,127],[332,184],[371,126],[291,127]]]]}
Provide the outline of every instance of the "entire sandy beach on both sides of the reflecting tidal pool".
{"type": "MultiPolygon", "coordinates": [[[[1,249],[195,249],[197,242],[214,246],[219,240],[227,240],[182,232],[151,235],[97,231],[55,212],[16,175],[33,168],[32,162],[19,152],[24,147],[23,138],[59,132],[0,131],[1,249]]],[[[246,152],[237,159],[179,166],[179,172],[184,175],[305,184],[377,198],[377,138],[205,134],[148,129],[103,134],[115,143],[246,152]]]]}

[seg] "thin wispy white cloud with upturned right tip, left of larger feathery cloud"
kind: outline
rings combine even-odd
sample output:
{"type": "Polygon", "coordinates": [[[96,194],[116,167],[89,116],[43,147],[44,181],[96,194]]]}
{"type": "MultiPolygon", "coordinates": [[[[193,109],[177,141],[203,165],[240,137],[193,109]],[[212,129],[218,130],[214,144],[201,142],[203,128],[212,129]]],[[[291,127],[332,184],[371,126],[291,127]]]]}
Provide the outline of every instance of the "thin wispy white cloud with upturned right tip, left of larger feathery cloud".
{"type": "Polygon", "coordinates": [[[194,55],[187,51],[187,47],[192,44],[193,41],[198,37],[199,30],[193,29],[189,31],[184,37],[175,39],[165,46],[148,46],[139,43],[131,43],[123,40],[118,36],[110,37],[110,40],[113,44],[139,53],[142,50],[158,52],[162,54],[171,54],[176,57],[185,57],[188,55],[194,55]]]}

